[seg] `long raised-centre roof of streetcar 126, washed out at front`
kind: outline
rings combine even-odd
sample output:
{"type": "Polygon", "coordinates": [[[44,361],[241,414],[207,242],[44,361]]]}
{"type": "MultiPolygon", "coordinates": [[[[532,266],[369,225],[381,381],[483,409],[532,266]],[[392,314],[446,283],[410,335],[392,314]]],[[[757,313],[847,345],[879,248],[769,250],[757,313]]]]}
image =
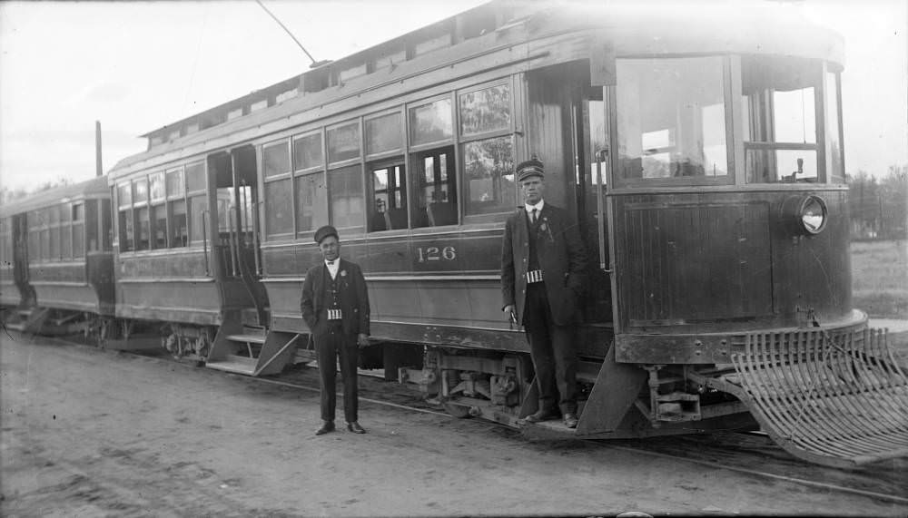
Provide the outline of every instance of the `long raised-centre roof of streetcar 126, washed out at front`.
{"type": "MultiPolygon", "coordinates": [[[[256,130],[264,124],[287,120],[292,114],[308,110],[321,112],[324,106],[335,101],[349,99],[399,78],[402,82],[403,78],[418,74],[420,69],[428,69],[452,56],[468,58],[467,53],[458,54],[458,44],[466,40],[457,42],[454,34],[474,18],[488,22],[489,16],[495,20],[491,34],[483,31],[476,37],[489,38],[496,45],[517,46],[553,34],[575,33],[587,36],[580,38],[587,46],[607,45],[616,57],[770,54],[817,58],[837,65],[844,63],[844,43],[838,34],[809,21],[791,5],[765,0],[568,3],[558,7],[494,0],[145,133],[143,136],[148,137],[150,143],[154,138],[166,139],[169,134],[177,133],[177,136],[118,161],[110,172],[110,180],[113,182],[146,167],[163,166],[169,161],[211,152],[218,149],[212,142],[224,142],[228,135],[235,135],[228,139],[230,142],[248,140],[259,136],[256,130]],[[408,45],[424,43],[426,38],[431,41],[439,34],[449,34],[447,46],[439,46],[427,54],[408,56],[393,66],[367,73],[374,60],[401,52],[407,54],[408,45]],[[359,75],[343,78],[343,73],[360,68],[362,73],[359,75]],[[325,81],[330,84],[318,90],[306,90],[308,83],[325,81]],[[281,99],[281,93],[293,95],[281,99]],[[267,107],[242,116],[230,115],[241,109],[252,110],[252,106],[262,106],[262,103],[268,103],[267,107]],[[185,132],[189,133],[183,134],[185,132]]],[[[476,50],[471,52],[477,53],[476,50]]],[[[527,67],[533,68],[532,63],[528,62],[527,67]]],[[[317,117],[313,115],[312,118],[317,117]]]]}

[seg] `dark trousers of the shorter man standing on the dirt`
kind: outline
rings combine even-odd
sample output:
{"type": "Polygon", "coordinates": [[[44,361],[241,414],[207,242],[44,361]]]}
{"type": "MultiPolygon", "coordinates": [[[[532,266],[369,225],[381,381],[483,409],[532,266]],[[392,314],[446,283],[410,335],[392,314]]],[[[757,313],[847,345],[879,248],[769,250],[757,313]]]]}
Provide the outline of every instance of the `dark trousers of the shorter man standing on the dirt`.
{"type": "Polygon", "coordinates": [[[359,386],[356,367],[359,348],[356,335],[344,333],[340,321],[330,321],[325,331],[314,335],[321,384],[321,419],[333,421],[337,406],[337,363],[341,357],[343,415],[348,423],[358,421],[359,386]]]}

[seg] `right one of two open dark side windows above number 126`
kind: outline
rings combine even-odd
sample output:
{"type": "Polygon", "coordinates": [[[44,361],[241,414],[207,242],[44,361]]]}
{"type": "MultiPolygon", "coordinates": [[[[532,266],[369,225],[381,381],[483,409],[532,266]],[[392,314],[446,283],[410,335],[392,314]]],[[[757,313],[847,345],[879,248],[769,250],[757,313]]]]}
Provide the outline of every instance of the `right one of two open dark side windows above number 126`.
{"type": "Polygon", "coordinates": [[[456,225],[457,181],[454,148],[414,153],[410,158],[416,187],[413,227],[456,225]]]}

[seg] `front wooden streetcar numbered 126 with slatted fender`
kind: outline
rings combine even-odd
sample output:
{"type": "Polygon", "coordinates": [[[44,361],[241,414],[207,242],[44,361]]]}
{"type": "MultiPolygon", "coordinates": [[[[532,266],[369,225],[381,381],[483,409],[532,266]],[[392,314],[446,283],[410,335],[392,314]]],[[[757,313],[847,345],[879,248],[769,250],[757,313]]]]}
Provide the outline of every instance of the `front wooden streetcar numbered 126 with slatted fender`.
{"type": "Polygon", "coordinates": [[[493,1],[143,135],[107,175],[114,318],[229,372],[310,361],[331,224],[369,286],[361,367],[521,426],[499,258],[535,155],[593,259],[579,424],[527,434],[760,426],[820,464],[903,456],[905,376],[852,306],[843,42],[796,6],[693,11],[493,1]]]}

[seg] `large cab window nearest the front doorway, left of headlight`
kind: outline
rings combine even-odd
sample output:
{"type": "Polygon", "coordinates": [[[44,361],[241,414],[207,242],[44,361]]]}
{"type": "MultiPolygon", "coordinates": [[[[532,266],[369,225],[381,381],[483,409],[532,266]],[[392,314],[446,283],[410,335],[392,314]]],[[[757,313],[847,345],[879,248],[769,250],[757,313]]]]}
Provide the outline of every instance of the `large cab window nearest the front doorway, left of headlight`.
{"type": "Polygon", "coordinates": [[[619,178],[728,174],[723,58],[617,60],[619,178]]]}

